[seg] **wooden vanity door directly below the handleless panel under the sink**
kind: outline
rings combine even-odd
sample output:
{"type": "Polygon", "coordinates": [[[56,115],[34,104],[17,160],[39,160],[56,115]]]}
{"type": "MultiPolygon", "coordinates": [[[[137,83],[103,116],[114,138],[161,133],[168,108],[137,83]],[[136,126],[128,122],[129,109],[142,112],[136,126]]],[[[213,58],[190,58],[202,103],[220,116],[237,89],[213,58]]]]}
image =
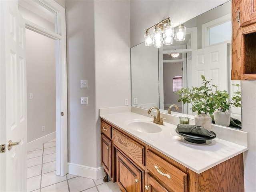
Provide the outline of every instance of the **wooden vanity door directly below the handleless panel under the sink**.
{"type": "Polygon", "coordinates": [[[122,192],[142,191],[142,171],[116,150],[116,181],[122,192]]]}

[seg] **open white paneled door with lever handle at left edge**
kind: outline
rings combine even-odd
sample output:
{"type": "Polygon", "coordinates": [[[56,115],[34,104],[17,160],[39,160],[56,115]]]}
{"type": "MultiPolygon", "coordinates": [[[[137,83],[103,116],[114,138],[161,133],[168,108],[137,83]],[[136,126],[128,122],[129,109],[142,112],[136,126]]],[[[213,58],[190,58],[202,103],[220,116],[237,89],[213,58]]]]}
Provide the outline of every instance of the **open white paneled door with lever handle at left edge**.
{"type": "Polygon", "coordinates": [[[26,191],[27,104],[25,23],[17,0],[0,1],[0,191],[26,191]],[[20,143],[7,149],[8,140],[20,143]]]}

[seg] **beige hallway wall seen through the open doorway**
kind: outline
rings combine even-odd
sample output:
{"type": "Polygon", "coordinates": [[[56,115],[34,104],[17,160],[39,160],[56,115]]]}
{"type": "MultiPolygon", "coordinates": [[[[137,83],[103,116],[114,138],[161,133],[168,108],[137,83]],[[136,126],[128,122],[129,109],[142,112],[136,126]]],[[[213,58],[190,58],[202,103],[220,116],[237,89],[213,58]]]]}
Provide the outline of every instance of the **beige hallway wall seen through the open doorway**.
{"type": "Polygon", "coordinates": [[[31,142],[56,131],[55,41],[26,29],[26,65],[28,142],[31,142]],[[30,93],[33,99],[29,98],[30,93]]]}

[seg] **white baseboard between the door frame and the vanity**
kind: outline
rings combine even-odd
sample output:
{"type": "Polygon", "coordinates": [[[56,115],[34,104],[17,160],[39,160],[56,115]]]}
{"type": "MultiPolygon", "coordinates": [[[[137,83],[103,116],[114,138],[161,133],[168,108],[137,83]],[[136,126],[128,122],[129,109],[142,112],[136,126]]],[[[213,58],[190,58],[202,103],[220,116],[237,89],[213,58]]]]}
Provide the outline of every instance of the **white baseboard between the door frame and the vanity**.
{"type": "Polygon", "coordinates": [[[68,163],[68,174],[82,176],[94,180],[98,180],[105,176],[103,167],[94,168],[74,163],[68,163]]]}

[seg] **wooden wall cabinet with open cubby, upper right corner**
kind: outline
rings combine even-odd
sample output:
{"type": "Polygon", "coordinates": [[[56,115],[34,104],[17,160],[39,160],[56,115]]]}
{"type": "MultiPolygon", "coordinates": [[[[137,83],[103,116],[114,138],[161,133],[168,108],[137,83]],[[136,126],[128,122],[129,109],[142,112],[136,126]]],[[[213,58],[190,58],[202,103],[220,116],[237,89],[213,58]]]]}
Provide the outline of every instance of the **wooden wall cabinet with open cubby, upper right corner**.
{"type": "Polygon", "coordinates": [[[256,80],[255,41],[256,0],[232,0],[232,80],[256,80]]]}

